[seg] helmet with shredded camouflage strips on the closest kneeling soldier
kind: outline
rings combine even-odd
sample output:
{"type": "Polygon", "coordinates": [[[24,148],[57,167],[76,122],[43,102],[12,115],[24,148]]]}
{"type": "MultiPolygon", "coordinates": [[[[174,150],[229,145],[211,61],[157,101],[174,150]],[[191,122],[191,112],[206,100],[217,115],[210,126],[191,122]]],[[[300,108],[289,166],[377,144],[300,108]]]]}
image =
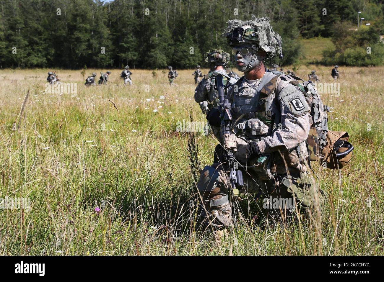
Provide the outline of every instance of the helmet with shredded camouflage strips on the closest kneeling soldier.
{"type": "MultiPolygon", "coordinates": [[[[251,20],[230,20],[227,21],[227,28],[223,32],[223,36],[227,37],[227,42],[231,47],[238,45],[255,50],[262,49],[266,53],[266,58],[271,58],[279,54],[279,58],[283,58],[281,36],[273,31],[268,18],[256,18],[251,16],[251,20]]],[[[266,59],[265,58],[265,59],[266,59]]]]}

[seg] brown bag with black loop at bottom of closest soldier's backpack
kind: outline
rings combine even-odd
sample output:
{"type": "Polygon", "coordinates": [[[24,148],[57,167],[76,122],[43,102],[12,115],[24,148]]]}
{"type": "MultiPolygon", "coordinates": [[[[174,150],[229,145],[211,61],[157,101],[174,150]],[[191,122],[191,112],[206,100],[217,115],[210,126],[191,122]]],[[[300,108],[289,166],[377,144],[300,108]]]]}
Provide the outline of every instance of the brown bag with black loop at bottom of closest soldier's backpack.
{"type": "Polygon", "coordinates": [[[327,144],[321,151],[327,168],[341,169],[349,163],[354,147],[348,139],[348,132],[328,130],[327,144]]]}

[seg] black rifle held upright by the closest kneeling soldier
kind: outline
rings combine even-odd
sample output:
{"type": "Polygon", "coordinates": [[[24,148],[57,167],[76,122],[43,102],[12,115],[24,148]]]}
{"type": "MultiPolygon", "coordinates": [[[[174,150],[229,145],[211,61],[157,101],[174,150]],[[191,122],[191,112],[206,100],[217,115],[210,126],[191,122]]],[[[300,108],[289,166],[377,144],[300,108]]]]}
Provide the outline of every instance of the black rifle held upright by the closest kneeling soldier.
{"type": "Polygon", "coordinates": [[[222,133],[222,146],[226,151],[226,160],[229,167],[229,174],[231,180],[231,187],[233,195],[238,195],[239,189],[244,185],[243,173],[238,169],[238,162],[235,159],[237,152],[236,136],[232,133],[232,114],[231,104],[228,99],[225,99],[223,76],[218,74],[216,76],[216,87],[218,92],[218,110],[221,114],[221,133],[222,133]]]}

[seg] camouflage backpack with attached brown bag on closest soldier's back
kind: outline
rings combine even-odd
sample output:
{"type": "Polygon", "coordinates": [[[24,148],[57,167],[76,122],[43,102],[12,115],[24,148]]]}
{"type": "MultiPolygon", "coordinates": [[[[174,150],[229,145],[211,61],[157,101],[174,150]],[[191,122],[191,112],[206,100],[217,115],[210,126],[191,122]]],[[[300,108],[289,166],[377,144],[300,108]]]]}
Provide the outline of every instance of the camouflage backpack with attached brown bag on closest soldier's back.
{"type": "Polygon", "coordinates": [[[312,126],[307,144],[311,161],[318,161],[322,167],[341,169],[351,161],[354,147],[348,142],[348,132],[328,130],[329,107],[323,105],[312,81],[290,76],[292,84],[300,87],[311,107],[312,126]],[[298,80],[303,81],[302,84],[298,80]]]}

